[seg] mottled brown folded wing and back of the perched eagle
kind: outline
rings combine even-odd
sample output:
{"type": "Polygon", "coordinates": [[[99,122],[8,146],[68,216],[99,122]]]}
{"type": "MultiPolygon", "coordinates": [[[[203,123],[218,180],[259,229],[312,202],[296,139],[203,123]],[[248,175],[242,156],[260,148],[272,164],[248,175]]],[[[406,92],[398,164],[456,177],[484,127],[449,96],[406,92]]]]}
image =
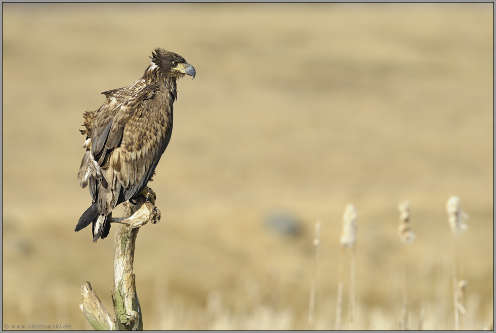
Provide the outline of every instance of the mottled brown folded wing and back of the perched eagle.
{"type": "Polygon", "coordinates": [[[99,213],[140,192],[152,177],[172,132],[172,103],[158,85],[105,92],[107,100],[88,128],[87,152],[79,182],[99,213]]]}

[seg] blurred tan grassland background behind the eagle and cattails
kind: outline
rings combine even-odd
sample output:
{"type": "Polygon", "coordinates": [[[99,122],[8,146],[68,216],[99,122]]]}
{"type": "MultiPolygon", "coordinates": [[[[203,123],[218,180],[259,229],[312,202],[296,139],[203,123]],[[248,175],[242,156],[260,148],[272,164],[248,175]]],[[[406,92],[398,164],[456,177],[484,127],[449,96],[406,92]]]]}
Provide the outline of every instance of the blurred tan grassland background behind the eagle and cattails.
{"type": "Polygon", "coordinates": [[[161,221],[137,240],[145,329],[305,329],[317,220],[315,328],[334,328],[348,203],[354,328],[397,328],[404,199],[411,327],[424,312],[424,328],[452,329],[451,195],[469,215],[464,328],[488,326],[493,19],[493,4],[3,4],[3,324],[91,328],[85,281],[114,316],[116,227],[96,244],[73,232],[91,204],[79,129],[163,47],[197,75],[178,82],[150,183],[161,221]]]}

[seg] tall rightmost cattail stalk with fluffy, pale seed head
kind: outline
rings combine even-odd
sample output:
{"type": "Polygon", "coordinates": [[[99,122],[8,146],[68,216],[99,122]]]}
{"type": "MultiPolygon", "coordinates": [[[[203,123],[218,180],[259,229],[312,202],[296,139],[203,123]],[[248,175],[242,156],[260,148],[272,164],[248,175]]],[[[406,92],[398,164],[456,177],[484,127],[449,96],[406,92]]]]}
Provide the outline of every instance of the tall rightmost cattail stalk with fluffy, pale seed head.
{"type": "Polygon", "coordinates": [[[460,330],[460,303],[458,291],[458,265],[457,265],[457,244],[456,236],[467,229],[464,223],[468,215],[462,211],[460,198],[452,196],[446,203],[448,213],[448,223],[451,229],[451,259],[453,269],[453,307],[454,307],[454,328],[460,330]]]}

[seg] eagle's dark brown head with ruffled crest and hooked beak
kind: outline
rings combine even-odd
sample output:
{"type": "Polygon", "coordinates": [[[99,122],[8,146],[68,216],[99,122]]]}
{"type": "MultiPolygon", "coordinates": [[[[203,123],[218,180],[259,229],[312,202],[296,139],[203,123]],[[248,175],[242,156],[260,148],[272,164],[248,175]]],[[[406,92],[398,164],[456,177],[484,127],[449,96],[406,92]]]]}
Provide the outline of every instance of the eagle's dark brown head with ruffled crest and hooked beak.
{"type": "Polygon", "coordinates": [[[150,58],[152,61],[148,70],[157,69],[162,75],[176,80],[182,78],[185,74],[192,76],[193,79],[195,77],[194,67],[177,53],[156,48],[150,58]]]}

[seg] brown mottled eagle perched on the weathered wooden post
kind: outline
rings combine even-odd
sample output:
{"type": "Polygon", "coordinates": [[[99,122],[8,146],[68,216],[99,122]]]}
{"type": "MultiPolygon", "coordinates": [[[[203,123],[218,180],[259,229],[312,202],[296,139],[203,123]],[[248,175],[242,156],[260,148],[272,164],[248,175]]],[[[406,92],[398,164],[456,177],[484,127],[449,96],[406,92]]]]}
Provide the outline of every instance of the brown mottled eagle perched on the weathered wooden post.
{"type": "Polygon", "coordinates": [[[105,91],[100,108],[87,111],[86,135],[77,179],[89,184],[91,206],[74,231],[93,224],[93,242],[110,231],[112,210],[134,196],[154,193],[147,187],[172,134],[176,81],[195,77],[195,69],[179,54],[156,48],[143,77],[128,87],[105,91]]]}

